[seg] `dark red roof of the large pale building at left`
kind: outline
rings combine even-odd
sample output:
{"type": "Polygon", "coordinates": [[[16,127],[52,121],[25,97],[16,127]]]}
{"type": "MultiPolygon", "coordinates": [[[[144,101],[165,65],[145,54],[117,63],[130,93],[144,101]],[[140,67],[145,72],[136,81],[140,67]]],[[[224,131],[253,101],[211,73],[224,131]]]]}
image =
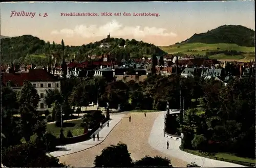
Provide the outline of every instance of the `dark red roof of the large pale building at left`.
{"type": "Polygon", "coordinates": [[[24,80],[28,81],[55,81],[58,78],[43,69],[33,69],[24,73],[2,73],[3,82],[11,82],[11,87],[22,87],[24,80]]]}

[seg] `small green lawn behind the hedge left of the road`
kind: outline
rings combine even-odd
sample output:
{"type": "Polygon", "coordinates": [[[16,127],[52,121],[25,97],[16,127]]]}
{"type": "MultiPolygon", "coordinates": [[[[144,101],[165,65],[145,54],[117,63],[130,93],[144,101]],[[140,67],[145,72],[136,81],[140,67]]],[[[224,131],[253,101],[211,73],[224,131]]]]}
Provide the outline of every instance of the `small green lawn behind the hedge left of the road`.
{"type": "MultiPolygon", "coordinates": [[[[63,123],[63,134],[67,136],[68,131],[72,132],[73,136],[83,134],[83,127],[80,127],[82,120],[74,120],[63,123]]],[[[47,131],[51,132],[56,137],[59,137],[60,128],[56,127],[55,124],[47,124],[47,131]]]]}

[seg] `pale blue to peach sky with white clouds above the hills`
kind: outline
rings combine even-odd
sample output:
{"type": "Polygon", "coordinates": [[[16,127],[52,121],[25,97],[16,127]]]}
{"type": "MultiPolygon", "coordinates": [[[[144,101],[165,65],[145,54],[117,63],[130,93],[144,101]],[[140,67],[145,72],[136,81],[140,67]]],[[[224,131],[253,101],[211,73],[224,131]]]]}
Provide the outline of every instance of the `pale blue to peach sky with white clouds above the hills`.
{"type": "Polygon", "coordinates": [[[167,46],[224,24],[255,30],[254,1],[16,2],[1,3],[0,9],[2,36],[33,35],[51,43],[63,39],[66,45],[88,44],[110,34],[167,46]],[[78,16],[86,13],[94,16],[78,16]]]}

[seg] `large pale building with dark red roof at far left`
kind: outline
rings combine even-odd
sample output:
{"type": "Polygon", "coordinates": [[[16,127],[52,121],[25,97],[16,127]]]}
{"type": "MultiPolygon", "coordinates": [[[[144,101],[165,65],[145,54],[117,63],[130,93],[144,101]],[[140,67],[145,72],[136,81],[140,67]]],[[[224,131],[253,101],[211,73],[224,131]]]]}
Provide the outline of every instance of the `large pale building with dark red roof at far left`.
{"type": "Polygon", "coordinates": [[[33,69],[23,73],[2,73],[2,79],[2,84],[4,86],[10,87],[15,91],[20,91],[22,89],[25,80],[30,81],[40,97],[37,107],[37,110],[40,111],[48,109],[45,102],[46,91],[48,89],[57,89],[60,91],[60,80],[58,77],[43,69],[33,69]]]}

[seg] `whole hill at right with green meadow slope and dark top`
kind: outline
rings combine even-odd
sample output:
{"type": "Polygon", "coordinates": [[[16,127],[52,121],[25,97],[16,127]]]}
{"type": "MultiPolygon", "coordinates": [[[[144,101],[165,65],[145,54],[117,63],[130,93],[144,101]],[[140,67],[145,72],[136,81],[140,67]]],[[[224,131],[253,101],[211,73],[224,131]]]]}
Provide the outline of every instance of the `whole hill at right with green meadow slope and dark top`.
{"type": "Polygon", "coordinates": [[[223,25],[207,33],[195,34],[181,43],[160,48],[171,54],[251,61],[255,55],[254,31],[241,25],[223,25]]]}

